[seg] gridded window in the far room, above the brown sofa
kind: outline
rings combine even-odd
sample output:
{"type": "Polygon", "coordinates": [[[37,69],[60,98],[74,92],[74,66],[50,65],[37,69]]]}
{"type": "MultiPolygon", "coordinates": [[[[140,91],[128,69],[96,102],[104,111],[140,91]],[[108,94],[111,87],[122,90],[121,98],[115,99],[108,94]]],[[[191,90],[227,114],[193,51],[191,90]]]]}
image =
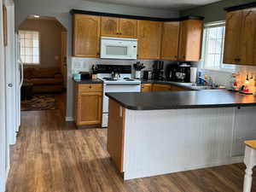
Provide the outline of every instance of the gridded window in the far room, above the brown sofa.
{"type": "Polygon", "coordinates": [[[19,31],[20,57],[24,64],[40,64],[39,32],[19,31]]]}

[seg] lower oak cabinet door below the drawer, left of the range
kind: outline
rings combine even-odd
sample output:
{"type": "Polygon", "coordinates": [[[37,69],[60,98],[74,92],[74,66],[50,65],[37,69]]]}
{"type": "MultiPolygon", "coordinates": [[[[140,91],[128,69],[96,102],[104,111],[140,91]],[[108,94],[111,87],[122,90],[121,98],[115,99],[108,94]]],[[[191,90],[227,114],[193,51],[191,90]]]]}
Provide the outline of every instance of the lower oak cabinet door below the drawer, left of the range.
{"type": "Polygon", "coordinates": [[[77,119],[77,125],[102,123],[102,92],[79,93],[77,119]]]}

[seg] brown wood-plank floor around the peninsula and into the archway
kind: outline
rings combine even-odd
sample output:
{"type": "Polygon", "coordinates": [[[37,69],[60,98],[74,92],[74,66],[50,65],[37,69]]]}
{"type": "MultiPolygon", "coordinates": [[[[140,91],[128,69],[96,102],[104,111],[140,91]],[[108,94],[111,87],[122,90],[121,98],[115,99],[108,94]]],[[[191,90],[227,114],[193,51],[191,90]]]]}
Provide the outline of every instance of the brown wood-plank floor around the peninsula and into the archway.
{"type": "Polygon", "coordinates": [[[7,192],[242,191],[243,164],[124,182],[106,151],[107,129],[77,130],[60,109],[25,112],[21,121],[7,192]]]}

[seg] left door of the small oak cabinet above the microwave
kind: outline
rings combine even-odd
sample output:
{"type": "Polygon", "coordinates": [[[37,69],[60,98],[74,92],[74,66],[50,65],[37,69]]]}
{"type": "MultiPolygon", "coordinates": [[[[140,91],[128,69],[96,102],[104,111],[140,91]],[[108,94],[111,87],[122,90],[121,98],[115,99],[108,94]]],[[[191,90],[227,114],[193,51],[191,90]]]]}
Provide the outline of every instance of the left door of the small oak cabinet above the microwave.
{"type": "Polygon", "coordinates": [[[119,18],[102,17],[102,36],[118,37],[119,36],[119,18]]]}

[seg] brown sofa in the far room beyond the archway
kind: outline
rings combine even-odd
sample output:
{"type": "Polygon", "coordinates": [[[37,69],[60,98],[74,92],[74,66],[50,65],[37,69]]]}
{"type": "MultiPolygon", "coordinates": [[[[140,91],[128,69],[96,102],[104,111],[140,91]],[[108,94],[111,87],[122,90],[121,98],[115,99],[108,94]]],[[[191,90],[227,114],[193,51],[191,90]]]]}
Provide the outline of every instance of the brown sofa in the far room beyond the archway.
{"type": "Polygon", "coordinates": [[[24,81],[33,84],[35,93],[63,90],[63,76],[59,68],[24,68],[24,81]]]}

